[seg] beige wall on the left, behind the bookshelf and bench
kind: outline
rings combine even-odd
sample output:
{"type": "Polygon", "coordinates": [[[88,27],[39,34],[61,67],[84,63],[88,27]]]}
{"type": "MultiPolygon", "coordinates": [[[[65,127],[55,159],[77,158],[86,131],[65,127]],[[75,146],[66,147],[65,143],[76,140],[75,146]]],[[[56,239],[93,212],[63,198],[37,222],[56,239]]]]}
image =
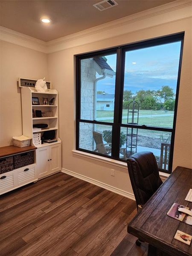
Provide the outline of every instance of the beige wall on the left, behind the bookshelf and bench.
{"type": "Polygon", "coordinates": [[[0,146],[22,134],[19,77],[48,79],[47,55],[0,41],[0,146]]]}

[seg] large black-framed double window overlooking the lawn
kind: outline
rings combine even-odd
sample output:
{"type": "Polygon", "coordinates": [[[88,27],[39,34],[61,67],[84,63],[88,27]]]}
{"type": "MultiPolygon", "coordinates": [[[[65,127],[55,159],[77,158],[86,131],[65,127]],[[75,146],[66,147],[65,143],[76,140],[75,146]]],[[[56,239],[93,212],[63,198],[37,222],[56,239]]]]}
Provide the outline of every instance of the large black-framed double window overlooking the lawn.
{"type": "Polygon", "coordinates": [[[184,33],[76,56],[76,149],[171,172],[184,33]]]}

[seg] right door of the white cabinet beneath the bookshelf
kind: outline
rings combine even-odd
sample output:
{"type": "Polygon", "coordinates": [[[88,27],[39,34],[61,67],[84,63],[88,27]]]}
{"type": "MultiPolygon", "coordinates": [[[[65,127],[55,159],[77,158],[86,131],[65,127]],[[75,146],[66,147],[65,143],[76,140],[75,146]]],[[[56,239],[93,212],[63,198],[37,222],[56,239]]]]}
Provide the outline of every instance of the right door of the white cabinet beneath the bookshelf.
{"type": "Polygon", "coordinates": [[[50,173],[61,170],[61,144],[49,147],[50,173]]]}

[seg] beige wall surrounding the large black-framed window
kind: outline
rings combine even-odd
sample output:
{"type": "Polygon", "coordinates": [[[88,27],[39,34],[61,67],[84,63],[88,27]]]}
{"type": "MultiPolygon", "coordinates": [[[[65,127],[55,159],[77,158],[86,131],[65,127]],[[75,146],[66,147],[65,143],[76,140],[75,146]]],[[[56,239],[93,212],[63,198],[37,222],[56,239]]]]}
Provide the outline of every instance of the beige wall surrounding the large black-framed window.
{"type": "Polygon", "coordinates": [[[94,43],[73,47],[48,55],[49,78],[59,93],[59,134],[62,140],[62,168],[107,183],[117,189],[132,192],[127,170],[125,168],[114,168],[111,164],[76,156],[72,153],[72,150],[75,149],[76,102],[74,55],[181,31],[185,31],[185,40],[180,79],[173,169],[175,169],[176,166],[192,168],[191,29],[191,20],[185,19],[103,41],[98,41],[98,35],[96,35],[96,42],[94,43]],[[110,175],[111,168],[116,170],[115,177],[110,175]]]}

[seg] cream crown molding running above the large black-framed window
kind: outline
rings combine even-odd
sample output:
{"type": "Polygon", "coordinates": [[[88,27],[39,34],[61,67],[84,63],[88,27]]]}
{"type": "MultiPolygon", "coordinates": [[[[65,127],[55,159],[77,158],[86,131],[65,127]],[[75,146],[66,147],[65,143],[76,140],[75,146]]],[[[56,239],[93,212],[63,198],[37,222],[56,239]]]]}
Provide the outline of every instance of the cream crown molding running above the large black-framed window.
{"type": "Polygon", "coordinates": [[[162,6],[157,6],[143,12],[138,12],[118,20],[113,20],[81,32],[49,41],[47,42],[47,52],[61,51],[141,29],[159,26],[163,23],[183,20],[192,17],[191,8],[191,0],[177,0],[162,6]],[[151,26],[151,24],[153,25],[151,26]]]}

